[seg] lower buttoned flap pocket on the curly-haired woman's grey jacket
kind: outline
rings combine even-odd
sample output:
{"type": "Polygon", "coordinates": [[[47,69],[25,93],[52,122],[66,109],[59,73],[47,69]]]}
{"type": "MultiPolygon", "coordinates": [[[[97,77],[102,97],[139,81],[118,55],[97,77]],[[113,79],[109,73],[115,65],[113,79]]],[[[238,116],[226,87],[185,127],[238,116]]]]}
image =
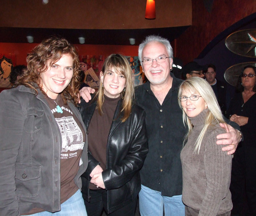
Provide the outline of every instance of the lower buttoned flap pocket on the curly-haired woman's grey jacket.
{"type": "Polygon", "coordinates": [[[20,197],[35,197],[41,186],[41,166],[16,165],[15,182],[16,193],[20,197]]]}

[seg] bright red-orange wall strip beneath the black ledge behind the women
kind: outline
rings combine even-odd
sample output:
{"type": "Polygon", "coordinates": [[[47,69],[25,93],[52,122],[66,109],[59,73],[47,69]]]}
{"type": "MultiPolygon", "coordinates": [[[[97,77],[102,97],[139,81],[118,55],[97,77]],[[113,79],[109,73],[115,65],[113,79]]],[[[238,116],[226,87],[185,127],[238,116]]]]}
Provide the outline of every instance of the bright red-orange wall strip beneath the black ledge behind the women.
{"type": "MultiPolygon", "coordinates": [[[[27,54],[36,46],[36,43],[0,43],[0,53],[15,54],[16,65],[27,64],[27,54]]],[[[138,46],[117,46],[117,45],[82,45],[75,44],[79,55],[103,55],[121,53],[125,56],[138,56],[138,46]]]]}

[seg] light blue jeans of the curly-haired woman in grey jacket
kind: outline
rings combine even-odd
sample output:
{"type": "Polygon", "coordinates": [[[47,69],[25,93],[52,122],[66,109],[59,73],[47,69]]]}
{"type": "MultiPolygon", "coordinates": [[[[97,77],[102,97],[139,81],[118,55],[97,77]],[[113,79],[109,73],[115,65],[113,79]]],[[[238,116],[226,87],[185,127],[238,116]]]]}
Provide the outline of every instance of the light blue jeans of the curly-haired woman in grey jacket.
{"type": "Polygon", "coordinates": [[[84,199],[80,190],[60,205],[61,210],[59,212],[39,212],[31,214],[35,216],[87,216],[84,199]]]}

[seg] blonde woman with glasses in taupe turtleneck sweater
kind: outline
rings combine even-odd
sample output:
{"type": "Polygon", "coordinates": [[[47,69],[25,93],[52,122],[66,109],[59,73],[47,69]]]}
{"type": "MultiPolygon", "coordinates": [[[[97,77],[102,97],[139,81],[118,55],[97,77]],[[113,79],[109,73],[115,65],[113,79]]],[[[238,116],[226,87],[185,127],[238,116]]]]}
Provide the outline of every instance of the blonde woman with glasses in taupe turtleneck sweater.
{"type": "Polygon", "coordinates": [[[216,145],[224,123],[212,87],[202,78],[181,83],[179,104],[188,125],[182,164],[182,201],[186,215],[230,215],[232,156],[216,145]]]}

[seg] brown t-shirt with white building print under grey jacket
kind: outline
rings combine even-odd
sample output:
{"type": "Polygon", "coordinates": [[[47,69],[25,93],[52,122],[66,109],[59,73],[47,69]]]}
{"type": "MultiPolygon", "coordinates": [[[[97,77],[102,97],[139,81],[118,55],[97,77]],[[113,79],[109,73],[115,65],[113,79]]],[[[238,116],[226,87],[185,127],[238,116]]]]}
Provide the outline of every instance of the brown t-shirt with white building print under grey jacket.
{"type": "Polygon", "coordinates": [[[59,125],[62,138],[60,153],[60,203],[63,203],[78,190],[74,177],[79,169],[79,161],[85,142],[85,132],[76,115],[73,114],[68,105],[64,105],[60,95],[55,100],[47,98],[47,102],[59,125]]]}

